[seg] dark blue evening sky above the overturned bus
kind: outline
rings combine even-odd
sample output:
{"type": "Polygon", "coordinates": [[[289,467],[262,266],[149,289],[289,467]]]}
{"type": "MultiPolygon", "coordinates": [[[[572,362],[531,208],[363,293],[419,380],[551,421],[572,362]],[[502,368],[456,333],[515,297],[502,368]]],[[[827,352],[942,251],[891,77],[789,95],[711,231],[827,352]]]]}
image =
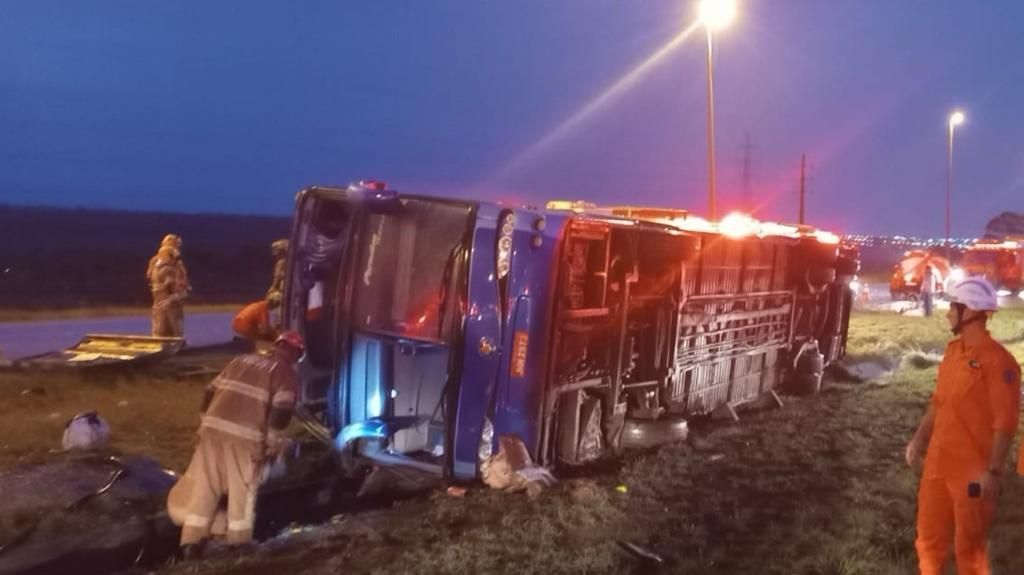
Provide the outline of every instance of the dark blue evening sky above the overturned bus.
{"type": "MultiPolygon", "coordinates": [[[[942,233],[1024,211],[1024,3],[740,0],[717,37],[722,202],[743,141],[765,219],[942,233]]],[[[0,202],[288,213],[373,177],[410,192],[706,206],[702,37],[540,147],[670,42],[692,0],[6,1],[0,202]]]]}

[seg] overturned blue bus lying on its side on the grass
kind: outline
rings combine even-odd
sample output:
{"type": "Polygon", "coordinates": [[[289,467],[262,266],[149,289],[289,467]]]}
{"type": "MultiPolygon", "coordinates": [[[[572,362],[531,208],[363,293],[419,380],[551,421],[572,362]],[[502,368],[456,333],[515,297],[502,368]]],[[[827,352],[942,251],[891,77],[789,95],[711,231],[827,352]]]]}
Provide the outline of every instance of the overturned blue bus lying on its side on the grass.
{"type": "Polygon", "coordinates": [[[545,466],[672,440],[807,366],[813,391],[857,266],[830,233],[738,215],[308,188],[284,311],[299,413],[351,460],[455,480],[503,436],[545,466]]]}

